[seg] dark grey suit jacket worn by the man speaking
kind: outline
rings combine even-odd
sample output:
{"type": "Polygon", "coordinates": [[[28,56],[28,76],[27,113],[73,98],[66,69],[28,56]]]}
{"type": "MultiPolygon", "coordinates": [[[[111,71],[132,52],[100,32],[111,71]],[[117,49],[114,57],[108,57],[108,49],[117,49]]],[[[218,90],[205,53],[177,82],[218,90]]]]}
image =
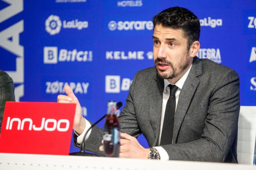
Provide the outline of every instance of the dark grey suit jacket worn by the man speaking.
{"type": "MultiPolygon", "coordinates": [[[[150,147],[160,135],[164,81],[154,67],[137,72],[119,116],[121,132],[145,136],[150,147]]],[[[181,89],[173,144],[162,146],[170,160],[237,163],[239,76],[209,59],[194,58],[181,89]]],[[[75,139],[76,140],[76,139],[75,139]]],[[[86,149],[99,151],[102,129],[92,129],[86,149]]]]}

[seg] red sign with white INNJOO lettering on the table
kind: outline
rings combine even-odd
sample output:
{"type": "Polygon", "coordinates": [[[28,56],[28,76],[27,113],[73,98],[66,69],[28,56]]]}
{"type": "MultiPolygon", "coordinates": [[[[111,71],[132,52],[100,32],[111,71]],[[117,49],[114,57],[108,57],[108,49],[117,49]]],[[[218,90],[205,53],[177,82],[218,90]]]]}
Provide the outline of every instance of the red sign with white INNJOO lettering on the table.
{"type": "Polygon", "coordinates": [[[76,104],[6,102],[0,152],[68,155],[76,104]]]}

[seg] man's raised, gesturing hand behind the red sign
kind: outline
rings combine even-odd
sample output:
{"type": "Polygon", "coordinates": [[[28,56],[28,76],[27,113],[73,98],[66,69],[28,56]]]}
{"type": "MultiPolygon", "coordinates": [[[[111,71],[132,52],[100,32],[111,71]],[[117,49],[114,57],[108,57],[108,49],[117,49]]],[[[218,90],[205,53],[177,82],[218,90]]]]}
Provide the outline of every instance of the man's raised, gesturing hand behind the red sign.
{"type": "Polygon", "coordinates": [[[75,112],[73,129],[79,135],[81,135],[86,125],[86,121],[85,119],[83,119],[83,116],[82,116],[81,105],[78,99],[76,98],[75,94],[73,93],[73,90],[70,88],[70,86],[66,85],[64,89],[67,95],[58,95],[57,101],[58,103],[76,103],[76,112],[75,112]]]}

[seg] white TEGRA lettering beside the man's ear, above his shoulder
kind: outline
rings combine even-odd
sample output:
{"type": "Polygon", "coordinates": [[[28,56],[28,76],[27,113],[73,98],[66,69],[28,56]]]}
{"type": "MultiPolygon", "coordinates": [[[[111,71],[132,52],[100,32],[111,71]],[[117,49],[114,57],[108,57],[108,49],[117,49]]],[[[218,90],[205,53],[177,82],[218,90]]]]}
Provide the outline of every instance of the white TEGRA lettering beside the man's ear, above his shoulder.
{"type": "Polygon", "coordinates": [[[219,48],[200,48],[198,51],[198,58],[208,58],[211,61],[221,63],[219,48]]]}

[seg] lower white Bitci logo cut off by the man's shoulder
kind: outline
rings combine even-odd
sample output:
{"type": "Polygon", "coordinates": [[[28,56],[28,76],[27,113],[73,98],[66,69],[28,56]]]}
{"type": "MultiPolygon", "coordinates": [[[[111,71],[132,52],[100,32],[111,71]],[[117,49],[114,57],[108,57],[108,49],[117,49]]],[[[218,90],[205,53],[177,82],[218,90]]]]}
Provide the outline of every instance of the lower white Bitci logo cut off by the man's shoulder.
{"type": "Polygon", "coordinates": [[[129,78],[123,78],[121,83],[121,78],[119,75],[105,76],[106,93],[120,93],[120,91],[128,91],[131,84],[132,80],[129,78]]]}

